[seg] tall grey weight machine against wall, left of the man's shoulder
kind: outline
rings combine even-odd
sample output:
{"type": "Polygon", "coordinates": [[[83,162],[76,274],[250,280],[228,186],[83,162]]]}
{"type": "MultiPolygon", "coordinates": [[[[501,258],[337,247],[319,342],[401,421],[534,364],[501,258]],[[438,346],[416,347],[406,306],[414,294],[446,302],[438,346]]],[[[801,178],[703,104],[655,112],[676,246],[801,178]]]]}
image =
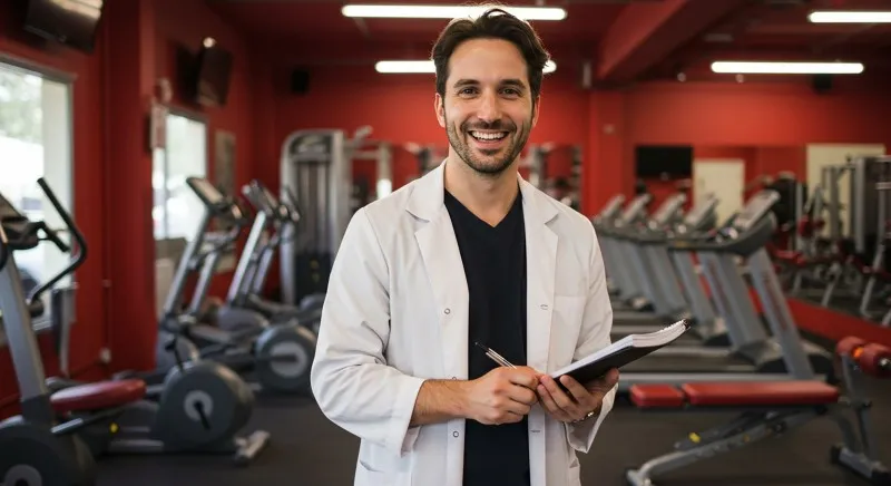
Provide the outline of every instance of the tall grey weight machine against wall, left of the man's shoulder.
{"type": "Polygon", "coordinates": [[[295,237],[281,246],[282,302],[295,305],[324,293],[341,239],[353,214],[392,192],[392,148],[370,139],[364,126],[349,137],[340,129],[298,130],[282,146],[282,197],[296,192],[302,215],[295,237]],[[376,163],[372,191],[353,177],[360,161],[376,163]]]}

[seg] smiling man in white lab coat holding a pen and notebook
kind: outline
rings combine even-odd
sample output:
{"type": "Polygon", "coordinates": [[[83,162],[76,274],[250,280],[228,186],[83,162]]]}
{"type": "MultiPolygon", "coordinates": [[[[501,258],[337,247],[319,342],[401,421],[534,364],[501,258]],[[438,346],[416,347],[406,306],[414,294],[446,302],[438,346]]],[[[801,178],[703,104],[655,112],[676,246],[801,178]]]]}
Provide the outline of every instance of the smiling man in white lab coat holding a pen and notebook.
{"type": "Polygon", "coordinates": [[[352,218],[313,391],[362,439],[356,485],[579,485],[618,372],[568,391],[546,375],[608,346],[613,320],[593,225],[517,171],[548,55],[495,9],[432,57],[449,155],[352,218]]]}

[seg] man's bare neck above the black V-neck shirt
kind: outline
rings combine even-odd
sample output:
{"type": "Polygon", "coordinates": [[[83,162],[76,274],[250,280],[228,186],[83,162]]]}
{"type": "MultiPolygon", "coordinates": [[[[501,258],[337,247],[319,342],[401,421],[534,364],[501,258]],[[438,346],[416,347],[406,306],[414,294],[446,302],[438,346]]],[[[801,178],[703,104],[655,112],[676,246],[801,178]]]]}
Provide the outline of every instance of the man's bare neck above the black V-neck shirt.
{"type": "Polygon", "coordinates": [[[446,189],[480,220],[495,226],[519,197],[517,168],[511,164],[498,175],[479,174],[457,155],[446,163],[446,189]]]}

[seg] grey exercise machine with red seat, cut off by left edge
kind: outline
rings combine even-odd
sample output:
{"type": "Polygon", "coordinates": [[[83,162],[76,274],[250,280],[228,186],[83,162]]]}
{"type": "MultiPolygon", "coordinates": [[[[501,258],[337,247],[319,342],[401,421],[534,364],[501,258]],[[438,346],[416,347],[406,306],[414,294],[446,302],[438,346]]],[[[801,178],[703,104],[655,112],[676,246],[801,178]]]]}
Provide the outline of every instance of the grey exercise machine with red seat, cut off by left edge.
{"type": "MultiPolygon", "coordinates": [[[[57,211],[58,201],[46,183],[38,181],[57,211]]],[[[70,218],[63,213],[66,223],[70,218]]],[[[80,432],[92,424],[114,420],[123,407],[139,400],[145,385],[138,380],[90,383],[72,388],[69,397],[50,395],[40,359],[31,311],[21,284],[14,250],[36,246],[42,227],[31,224],[0,196],[0,311],[19,386],[21,415],[0,422],[0,484],[10,486],[94,486],[96,463],[80,432]],[[91,417],[60,420],[60,412],[79,412],[100,405],[91,417]]],[[[67,251],[58,237],[47,236],[67,251]]],[[[35,292],[40,295],[75,271],[84,254],[35,292]]]]}

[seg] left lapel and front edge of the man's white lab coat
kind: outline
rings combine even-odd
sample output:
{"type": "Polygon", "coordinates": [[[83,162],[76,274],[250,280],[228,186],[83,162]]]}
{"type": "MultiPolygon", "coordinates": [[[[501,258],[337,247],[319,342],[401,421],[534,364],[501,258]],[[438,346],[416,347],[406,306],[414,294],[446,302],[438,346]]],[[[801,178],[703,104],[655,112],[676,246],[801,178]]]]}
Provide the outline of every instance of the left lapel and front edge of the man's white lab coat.
{"type": "Polygon", "coordinates": [[[424,221],[414,233],[421,251],[442,333],[443,372],[468,378],[468,288],[461,253],[443,203],[443,167],[430,171],[414,188],[408,211],[424,221]]]}

